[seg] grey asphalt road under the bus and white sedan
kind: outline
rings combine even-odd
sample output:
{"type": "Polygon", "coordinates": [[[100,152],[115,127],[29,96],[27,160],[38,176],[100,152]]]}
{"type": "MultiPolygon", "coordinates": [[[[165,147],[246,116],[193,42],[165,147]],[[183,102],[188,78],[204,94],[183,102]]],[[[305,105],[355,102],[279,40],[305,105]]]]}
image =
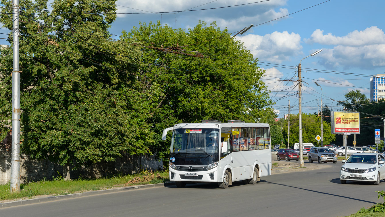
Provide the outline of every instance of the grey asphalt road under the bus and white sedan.
{"type": "Polygon", "coordinates": [[[187,184],[186,188],[131,190],[2,208],[0,216],[337,217],[383,202],[375,191],[384,189],[384,181],[380,185],[349,181],[341,184],[338,176],[343,163],[325,165],[328,168],[262,177],[256,185],[236,182],[227,189],[219,189],[216,184],[198,183],[187,184]]]}

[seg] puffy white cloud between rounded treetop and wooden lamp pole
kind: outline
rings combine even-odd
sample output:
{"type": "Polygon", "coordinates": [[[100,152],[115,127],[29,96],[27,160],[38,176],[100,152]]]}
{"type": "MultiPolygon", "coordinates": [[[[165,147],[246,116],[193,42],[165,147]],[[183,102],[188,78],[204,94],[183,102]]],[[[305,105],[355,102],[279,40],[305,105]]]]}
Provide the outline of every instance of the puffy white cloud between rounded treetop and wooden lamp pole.
{"type": "Polygon", "coordinates": [[[290,59],[290,56],[302,54],[301,36],[287,31],[273,32],[271,34],[236,36],[250,49],[254,58],[266,62],[281,63],[290,59]]]}

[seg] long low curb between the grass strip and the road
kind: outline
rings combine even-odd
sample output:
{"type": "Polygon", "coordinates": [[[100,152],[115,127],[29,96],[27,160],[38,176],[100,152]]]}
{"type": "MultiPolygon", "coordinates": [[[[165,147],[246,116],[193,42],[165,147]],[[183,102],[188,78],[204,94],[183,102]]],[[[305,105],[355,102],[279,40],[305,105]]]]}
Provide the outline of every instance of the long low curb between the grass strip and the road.
{"type": "Polygon", "coordinates": [[[154,188],[154,187],[170,186],[170,185],[175,185],[175,182],[165,182],[165,183],[157,183],[157,184],[150,184],[150,185],[134,185],[130,187],[112,188],[112,189],[96,190],[96,191],[89,191],[89,192],[82,192],[82,193],[72,193],[72,194],[66,194],[66,195],[33,198],[33,199],[27,199],[27,200],[16,200],[16,201],[0,203],[0,209],[5,207],[19,206],[19,205],[36,204],[40,202],[50,202],[54,200],[64,200],[69,198],[99,195],[104,193],[114,193],[114,192],[122,192],[127,190],[154,188]]]}

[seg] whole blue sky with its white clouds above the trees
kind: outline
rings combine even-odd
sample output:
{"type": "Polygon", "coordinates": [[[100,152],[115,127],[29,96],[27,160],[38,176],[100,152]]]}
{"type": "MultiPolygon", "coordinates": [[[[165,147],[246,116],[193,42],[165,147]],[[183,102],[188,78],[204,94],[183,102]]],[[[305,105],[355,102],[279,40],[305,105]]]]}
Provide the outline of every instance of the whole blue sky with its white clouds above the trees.
{"type": "MultiPolygon", "coordinates": [[[[117,13],[205,9],[257,1],[118,0],[117,13]]],[[[157,20],[161,20],[163,25],[183,29],[193,28],[198,20],[208,24],[216,21],[218,27],[227,27],[229,32],[254,24],[255,27],[237,35],[236,39],[244,42],[254,58],[259,59],[259,66],[266,70],[264,81],[273,91],[270,96],[276,101],[274,108],[281,111],[280,117],[287,113],[289,90],[291,113],[298,113],[297,83],[282,80],[297,80],[295,66],[320,49],[323,51],[301,62],[303,81],[306,82],[303,83],[302,110],[305,113],[317,111],[321,89],[314,81],[323,89],[323,104],[336,110],[336,101],[344,100],[344,95],[350,90],[359,89],[369,98],[370,76],[385,73],[385,1],[325,1],[269,0],[194,12],[119,14],[110,33],[120,35],[122,30],[128,32],[139,22],[157,20]],[[314,5],[317,6],[312,7],[314,5]],[[303,10],[305,8],[308,9],[303,10]],[[288,15],[291,13],[294,14],[288,15]],[[283,17],[285,15],[288,16],[283,17]],[[268,22],[279,17],[283,18],[268,22]],[[264,22],[268,23],[262,24],[264,22]]]]}

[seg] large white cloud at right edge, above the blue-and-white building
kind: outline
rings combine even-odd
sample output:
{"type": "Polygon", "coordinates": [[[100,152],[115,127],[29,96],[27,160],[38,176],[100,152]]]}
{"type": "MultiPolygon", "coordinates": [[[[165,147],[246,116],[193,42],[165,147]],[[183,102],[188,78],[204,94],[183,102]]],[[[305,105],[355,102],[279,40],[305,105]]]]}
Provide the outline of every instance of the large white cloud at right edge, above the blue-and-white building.
{"type": "Polygon", "coordinates": [[[376,26],[363,31],[355,30],[343,37],[331,33],[323,35],[323,31],[317,29],[310,39],[305,41],[336,45],[333,49],[323,49],[323,52],[317,55],[321,59],[319,63],[329,69],[335,67],[374,69],[385,66],[385,34],[376,26]]]}

